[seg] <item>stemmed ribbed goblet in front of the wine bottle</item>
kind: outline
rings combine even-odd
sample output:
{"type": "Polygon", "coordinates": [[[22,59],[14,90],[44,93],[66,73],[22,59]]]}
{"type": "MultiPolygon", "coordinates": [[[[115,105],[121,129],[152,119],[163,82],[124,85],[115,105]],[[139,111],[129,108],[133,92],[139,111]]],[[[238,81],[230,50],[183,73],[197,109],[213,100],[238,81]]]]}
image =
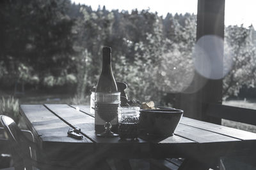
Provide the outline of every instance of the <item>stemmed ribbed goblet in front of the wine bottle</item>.
{"type": "Polygon", "coordinates": [[[120,92],[103,93],[95,92],[95,111],[102,120],[106,122],[105,131],[97,136],[108,138],[118,134],[111,132],[111,120],[118,117],[118,107],[120,106],[120,92]]]}

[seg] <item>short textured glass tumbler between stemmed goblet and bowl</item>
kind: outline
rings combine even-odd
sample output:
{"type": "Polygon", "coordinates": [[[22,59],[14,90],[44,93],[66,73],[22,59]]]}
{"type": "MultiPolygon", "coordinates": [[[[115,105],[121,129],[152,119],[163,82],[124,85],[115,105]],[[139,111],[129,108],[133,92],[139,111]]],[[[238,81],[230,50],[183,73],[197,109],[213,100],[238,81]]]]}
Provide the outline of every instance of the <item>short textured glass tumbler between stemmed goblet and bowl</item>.
{"type": "Polygon", "coordinates": [[[140,107],[125,106],[118,108],[118,133],[122,140],[138,138],[140,107]]]}

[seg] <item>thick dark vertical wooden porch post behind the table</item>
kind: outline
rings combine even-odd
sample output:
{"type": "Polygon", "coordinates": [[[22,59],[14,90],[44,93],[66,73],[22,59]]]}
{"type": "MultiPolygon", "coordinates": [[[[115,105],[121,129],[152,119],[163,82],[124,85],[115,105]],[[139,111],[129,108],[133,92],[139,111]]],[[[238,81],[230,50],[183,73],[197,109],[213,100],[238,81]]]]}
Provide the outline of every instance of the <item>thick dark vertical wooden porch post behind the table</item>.
{"type": "MultiPolygon", "coordinates": [[[[191,84],[190,89],[188,89],[188,91],[192,93],[180,94],[180,101],[178,104],[179,108],[184,110],[184,115],[186,117],[209,121],[209,118],[205,115],[205,110],[207,110],[207,108],[204,107],[204,104],[222,103],[221,75],[223,75],[223,45],[220,45],[220,43],[210,43],[211,46],[209,48],[209,43],[204,41],[207,41],[207,38],[205,39],[205,37],[208,36],[208,38],[217,39],[218,41],[223,42],[224,11],[225,0],[198,0],[196,43],[200,41],[200,48],[205,50],[204,55],[207,55],[209,59],[211,59],[210,63],[212,64],[212,69],[214,69],[214,74],[217,74],[218,76],[212,76],[212,74],[205,76],[204,71],[200,72],[195,69],[193,83],[191,84]],[[217,53],[218,56],[215,55],[217,53]],[[212,62],[216,60],[219,62],[212,62]],[[216,66],[216,64],[218,66],[216,66]]],[[[215,42],[215,40],[213,41],[215,42]]],[[[206,60],[200,60],[200,63],[197,63],[197,66],[207,67],[209,62],[206,62],[206,60]]],[[[220,119],[210,121],[220,124],[220,119]]]]}

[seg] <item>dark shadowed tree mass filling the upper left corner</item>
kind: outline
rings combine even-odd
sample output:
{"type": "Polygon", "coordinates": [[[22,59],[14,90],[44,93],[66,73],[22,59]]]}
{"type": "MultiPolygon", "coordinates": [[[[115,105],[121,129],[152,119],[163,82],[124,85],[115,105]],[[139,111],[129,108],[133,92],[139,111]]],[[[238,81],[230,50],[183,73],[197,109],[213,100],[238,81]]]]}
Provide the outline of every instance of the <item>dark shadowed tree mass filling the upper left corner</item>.
{"type": "Polygon", "coordinates": [[[68,0],[1,1],[0,78],[38,84],[44,76],[68,74],[72,66],[72,20],[68,0]]]}

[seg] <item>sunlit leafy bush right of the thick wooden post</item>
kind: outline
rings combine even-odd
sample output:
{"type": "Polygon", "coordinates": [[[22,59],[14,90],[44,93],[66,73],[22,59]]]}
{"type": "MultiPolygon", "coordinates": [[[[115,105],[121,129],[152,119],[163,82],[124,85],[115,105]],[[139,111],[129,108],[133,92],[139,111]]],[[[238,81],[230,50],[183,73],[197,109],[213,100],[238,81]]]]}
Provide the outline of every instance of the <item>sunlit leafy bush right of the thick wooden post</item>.
{"type": "Polygon", "coordinates": [[[243,86],[255,88],[255,31],[243,25],[225,29],[225,56],[232,57],[230,73],[223,80],[223,97],[237,96],[243,86]]]}

